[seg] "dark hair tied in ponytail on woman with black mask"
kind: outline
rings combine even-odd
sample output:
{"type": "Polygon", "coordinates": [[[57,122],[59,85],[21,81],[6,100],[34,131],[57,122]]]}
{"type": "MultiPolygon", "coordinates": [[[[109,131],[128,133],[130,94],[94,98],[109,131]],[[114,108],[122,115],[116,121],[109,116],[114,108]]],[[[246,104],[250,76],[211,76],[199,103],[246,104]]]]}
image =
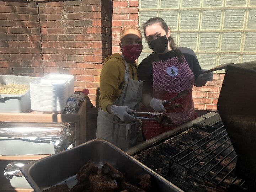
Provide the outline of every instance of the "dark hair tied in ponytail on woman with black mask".
{"type": "MultiPolygon", "coordinates": [[[[150,18],[148,21],[146,21],[143,24],[143,31],[144,31],[144,35],[146,37],[145,31],[146,31],[146,27],[153,25],[155,23],[159,23],[160,26],[163,28],[163,30],[165,30],[166,34],[168,33],[168,26],[166,24],[166,22],[161,18],[161,17],[153,17],[150,18]]],[[[177,57],[178,57],[178,61],[179,62],[183,62],[183,55],[180,51],[180,49],[177,48],[177,46],[175,45],[174,39],[172,38],[172,36],[168,37],[171,49],[176,53],[177,57]]]]}

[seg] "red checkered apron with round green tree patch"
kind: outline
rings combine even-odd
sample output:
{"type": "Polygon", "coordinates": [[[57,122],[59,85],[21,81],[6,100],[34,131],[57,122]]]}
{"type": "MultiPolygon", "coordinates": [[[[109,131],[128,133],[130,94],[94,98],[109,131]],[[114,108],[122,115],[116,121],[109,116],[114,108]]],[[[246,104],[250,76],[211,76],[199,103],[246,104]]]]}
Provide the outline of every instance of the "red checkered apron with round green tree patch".
{"type": "MultiPolygon", "coordinates": [[[[157,59],[158,60],[158,59],[157,59]]],[[[183,57],[183,63],[178,61],[177,57],[166,60],[165,62],[153,62],[153,98],[169,100],[183,90],[188,90],[187,96],[176,98],[169,105],[174,103],[182,104],[182,107],[172,108],[163,112],[169,116],[173,124],[159,124],[153,120],[142,119],[143,134],[146,139],[153,138],[176,126],[197,118],[194,112],[194,103],[192,100],[192,88],[194,84],[194,74],[190,66],[183,57]]],[[[168,105],[165,105],[168,106],[168,105]]],[[[154,111],[153,108],[146,108],[143,111],[154,111]]]]}

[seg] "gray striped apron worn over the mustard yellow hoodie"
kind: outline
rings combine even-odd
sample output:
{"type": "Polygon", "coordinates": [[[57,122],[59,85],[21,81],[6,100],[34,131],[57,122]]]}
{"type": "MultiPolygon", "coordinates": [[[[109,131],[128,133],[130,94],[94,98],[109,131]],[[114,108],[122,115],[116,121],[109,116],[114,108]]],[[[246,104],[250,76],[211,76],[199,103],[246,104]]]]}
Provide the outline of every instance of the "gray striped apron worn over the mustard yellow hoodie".
{"type": "MultiPolygon", "coordinates": [[[[143,81],[130,79],[128,64],[125,59],[124,62],[126,65],[124,88],[113,105],[127,106],[132,110],[140,111],[143,81]]],[[[136,145],[139,126],[141,126],[140,120],[127,124],[118,116],[105,112],[100,107],[98,109],[96,137],[102,137],[122,150],[136,145]]]]}

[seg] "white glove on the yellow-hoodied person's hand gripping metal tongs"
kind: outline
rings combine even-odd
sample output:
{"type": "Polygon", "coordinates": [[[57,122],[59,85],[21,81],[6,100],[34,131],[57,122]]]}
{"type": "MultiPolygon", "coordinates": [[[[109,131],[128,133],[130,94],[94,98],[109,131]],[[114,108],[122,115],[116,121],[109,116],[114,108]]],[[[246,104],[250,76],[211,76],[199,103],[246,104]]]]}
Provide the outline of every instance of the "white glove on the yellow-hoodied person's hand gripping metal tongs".
{"type": "Polygon", "coordinates": [[[110,110],[112,114],[117,115],[123,122],[130,123],[132,121],[137,120],[135,117],[128,114],[128,113],[136,112],[136,110],[131,110],[127,106],[112,105],[110,110]]]}

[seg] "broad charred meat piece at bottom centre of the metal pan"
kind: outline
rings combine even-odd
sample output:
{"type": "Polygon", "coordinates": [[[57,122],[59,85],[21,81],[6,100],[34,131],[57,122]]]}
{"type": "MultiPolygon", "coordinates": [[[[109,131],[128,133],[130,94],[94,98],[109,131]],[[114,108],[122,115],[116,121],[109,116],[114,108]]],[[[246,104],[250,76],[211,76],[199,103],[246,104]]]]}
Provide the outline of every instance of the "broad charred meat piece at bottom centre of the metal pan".
{"type": "Polygon", "coordinates": [[[89,183],[92,192],[116,192],[117,184],[108,175],[103,175],[102,170],[98,169],[97,173],[89,176],[89,183]]]}

